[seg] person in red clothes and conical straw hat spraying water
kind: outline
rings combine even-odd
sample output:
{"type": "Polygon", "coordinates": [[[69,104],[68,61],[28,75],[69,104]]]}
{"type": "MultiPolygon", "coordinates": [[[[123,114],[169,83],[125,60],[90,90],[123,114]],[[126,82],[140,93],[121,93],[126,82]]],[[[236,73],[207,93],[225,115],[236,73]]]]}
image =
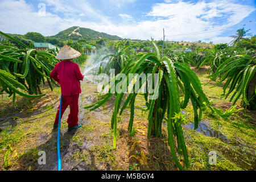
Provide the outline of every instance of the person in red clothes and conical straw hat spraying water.
{"type": "MultiPolygon", "coordinates": [[[[79,57],[80,52],[75,49],[64,46],[60,49],[60,52],[56,56],[56,59],[61,60],[55,65],[50,77],[60,84],[61,94],[62,94],[62,105],[61,105],[61,117],[67,107],[70,107],[70,113],[68,115],[68,130],[78,129],[82,125],[78,125],[79,113],[79,94],[81,93],[80,80],[83,80],[84,75],[82,75],[79,65],[73,63],[72,60],[75,57],[79,57]]],[[[59,122],[59,110],[56,114],[53,129],[56,129],[59,122]]]]}

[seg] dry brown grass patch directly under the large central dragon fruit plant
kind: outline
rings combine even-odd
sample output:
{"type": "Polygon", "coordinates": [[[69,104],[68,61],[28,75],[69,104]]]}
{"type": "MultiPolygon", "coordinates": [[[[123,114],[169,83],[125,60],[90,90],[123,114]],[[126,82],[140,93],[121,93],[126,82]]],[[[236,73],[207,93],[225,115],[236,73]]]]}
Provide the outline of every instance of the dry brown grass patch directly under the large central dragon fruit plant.
{"type": "Polygon", "coordinates": [[[167,142],[166,128],[163,137],[147,139],[148,121],[134,121],[135,134],[130,136],[128,122],[118,123],[119,136],[115,151],[118,166],[124,170],[177,170],[167,142]]]}

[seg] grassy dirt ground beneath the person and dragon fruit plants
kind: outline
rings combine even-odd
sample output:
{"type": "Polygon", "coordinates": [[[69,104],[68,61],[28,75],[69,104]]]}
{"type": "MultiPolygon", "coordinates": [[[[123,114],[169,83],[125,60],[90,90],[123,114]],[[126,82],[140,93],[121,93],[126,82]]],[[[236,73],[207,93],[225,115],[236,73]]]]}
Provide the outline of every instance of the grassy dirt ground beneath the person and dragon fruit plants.
{"type": "MultiPolygon", "coordinates": [[[[208,82],[206,71],[207,68],[196,72],[202,84],[208,82]]],[[[117,148],[113,149],[110,120],[114,97],[94,111],[83,108],[98,100],[96,86],[86,79],[81,82],[80,129],[67,130],[69,108],[63,115],[60,139],[62,169],[177,170],[168,147],[166,127],[163,125],[163,137],[147,139],[147,111],[140,109],[144,104],[143,97],[136,100],[133,136],[127,131],[129,109],[118,117],[117,148]]],[[[230,107],[228,99],[221,96],[221,87],[212,89],[210,86],[203,85],[203,89],[214,106],[224,110],[230,107]]],[[[43,86],[42,92],[47,93],[42,98],[18,97],[15,106],[7,95],[0,96],[0,170],[57,169],[57,130],[52,126],[59,106],[60,88],[55,87],[51,91],[43,86]],[[39,151],[46,152],[46,164],[38,164],[39,151]]],[[[191,104],[184,113],[192,122],[191,104]]],[[[205,111],[200,125],[202,130],[184,127],[190,169],[255,170],[255,115],[254,111],[242,110],[232,116],[231,122],[226,122],[205,111]],[[246,127],[239,128],[232,122],[246,127]],[[208,153],[212,150],[217,152],[218,162],[214,166],[208,163],[208,153]]],[[[179,160],[183,164],[183,158],[179,156],[179,160]]]]}

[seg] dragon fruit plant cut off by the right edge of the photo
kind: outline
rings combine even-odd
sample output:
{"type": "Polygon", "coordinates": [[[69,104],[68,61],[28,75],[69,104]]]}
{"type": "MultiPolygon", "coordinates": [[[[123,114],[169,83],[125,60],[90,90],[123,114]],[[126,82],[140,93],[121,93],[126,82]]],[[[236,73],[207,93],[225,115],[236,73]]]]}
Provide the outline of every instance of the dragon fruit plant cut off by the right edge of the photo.
{"type": "Polygon", "coordinates": [[[232,56],[224,61],[214,74],[209,76],[211,80],[215,81],[218,76],[223,75],[220,81],[217,82],[217,85],[226,81],[223,86],[225,98],[232,94],[230,102],[233,101],[233,105],[236,105],[238,99],[242,97],[242,106],[251,110],[256,110],[255,57],[245,54],[232,56]],[[228,93],[226,93],[228,88],[228,93]]]}

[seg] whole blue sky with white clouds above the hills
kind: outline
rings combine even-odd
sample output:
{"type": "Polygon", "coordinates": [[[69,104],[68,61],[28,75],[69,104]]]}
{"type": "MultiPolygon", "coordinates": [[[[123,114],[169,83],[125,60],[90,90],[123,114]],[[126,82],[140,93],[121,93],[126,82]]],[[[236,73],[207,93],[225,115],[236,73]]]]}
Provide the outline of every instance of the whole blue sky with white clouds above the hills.
{"type": "Polygon", "coordinates": [[[256,34],[254,0],[0,0],[0,17],[0,30],[13,34],[49,36],[80,26],[159,40],[164,28],[168,40],[213,43],[230,42],[242,27],[256,34]]]}

